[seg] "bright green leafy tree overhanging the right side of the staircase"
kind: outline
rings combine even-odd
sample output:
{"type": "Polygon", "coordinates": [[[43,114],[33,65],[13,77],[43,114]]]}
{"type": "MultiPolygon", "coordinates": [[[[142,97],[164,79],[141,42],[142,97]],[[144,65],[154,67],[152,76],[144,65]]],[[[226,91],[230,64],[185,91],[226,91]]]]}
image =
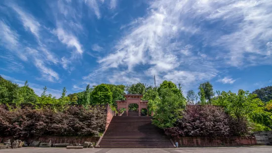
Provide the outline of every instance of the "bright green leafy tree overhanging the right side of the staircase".
{"type": "Polygon", "coordinates": [[[173,127],[177,119],[181,118],[186,100],[171,88],[160,88],[160,97],[153,123],[160,128],[173,127]]]}

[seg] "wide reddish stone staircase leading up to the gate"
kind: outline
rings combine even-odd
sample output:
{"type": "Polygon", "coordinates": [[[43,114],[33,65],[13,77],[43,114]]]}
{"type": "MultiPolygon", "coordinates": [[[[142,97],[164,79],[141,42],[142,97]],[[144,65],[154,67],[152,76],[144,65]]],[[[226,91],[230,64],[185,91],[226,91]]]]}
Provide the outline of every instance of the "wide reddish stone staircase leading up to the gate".
{"type": "Polygon", "coordinates": [[[114,116],[100,148],[173,148],[164,132],[151,123],[151,116],[114,116]]]}

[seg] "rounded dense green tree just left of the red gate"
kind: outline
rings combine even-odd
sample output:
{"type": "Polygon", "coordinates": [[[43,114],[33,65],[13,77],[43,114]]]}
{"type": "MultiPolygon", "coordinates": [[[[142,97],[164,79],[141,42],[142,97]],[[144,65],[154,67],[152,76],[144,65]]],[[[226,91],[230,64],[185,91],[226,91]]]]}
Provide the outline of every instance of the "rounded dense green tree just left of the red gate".
{"type": "Polygon", "coordinates": [[[100,84],[94,87],[91,93],[91,104],[111,104],[113,93],[105,84],[100,84]]]}

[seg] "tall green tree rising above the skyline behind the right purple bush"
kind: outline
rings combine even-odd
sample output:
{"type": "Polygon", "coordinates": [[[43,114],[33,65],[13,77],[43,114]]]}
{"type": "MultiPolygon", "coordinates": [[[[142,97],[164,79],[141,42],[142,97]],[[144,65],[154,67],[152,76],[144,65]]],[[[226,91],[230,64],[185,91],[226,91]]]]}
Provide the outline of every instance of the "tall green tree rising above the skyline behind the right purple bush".
{"type": "MultiPolygon", "coordinates": [[[[211,100],[214,96],[214,92],[213,92],[213,86],[212,84],[207,81],[207,82],[204,82],[204,83],[201,83],[198,87],[198,95],[200,97],[200,95],[202,94],[201,93],[201,89],[204,90],[204,93],[205,93],[205,99],[208,100],[208,103],[211,104],[211,100]]],[[[201,98],[201,97],[200,97],[201,98]]]]}

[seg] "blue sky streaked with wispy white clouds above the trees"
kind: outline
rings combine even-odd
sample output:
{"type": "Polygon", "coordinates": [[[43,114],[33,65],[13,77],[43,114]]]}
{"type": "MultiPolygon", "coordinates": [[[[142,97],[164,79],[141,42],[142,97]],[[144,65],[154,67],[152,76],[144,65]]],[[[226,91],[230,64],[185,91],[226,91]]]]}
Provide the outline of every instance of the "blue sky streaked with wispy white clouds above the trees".
{"type": "Polygon", "coordinates": [[[89,83],[272,85],[271,0],[1,0],[0,75],[59,97],[89,83]]]}

